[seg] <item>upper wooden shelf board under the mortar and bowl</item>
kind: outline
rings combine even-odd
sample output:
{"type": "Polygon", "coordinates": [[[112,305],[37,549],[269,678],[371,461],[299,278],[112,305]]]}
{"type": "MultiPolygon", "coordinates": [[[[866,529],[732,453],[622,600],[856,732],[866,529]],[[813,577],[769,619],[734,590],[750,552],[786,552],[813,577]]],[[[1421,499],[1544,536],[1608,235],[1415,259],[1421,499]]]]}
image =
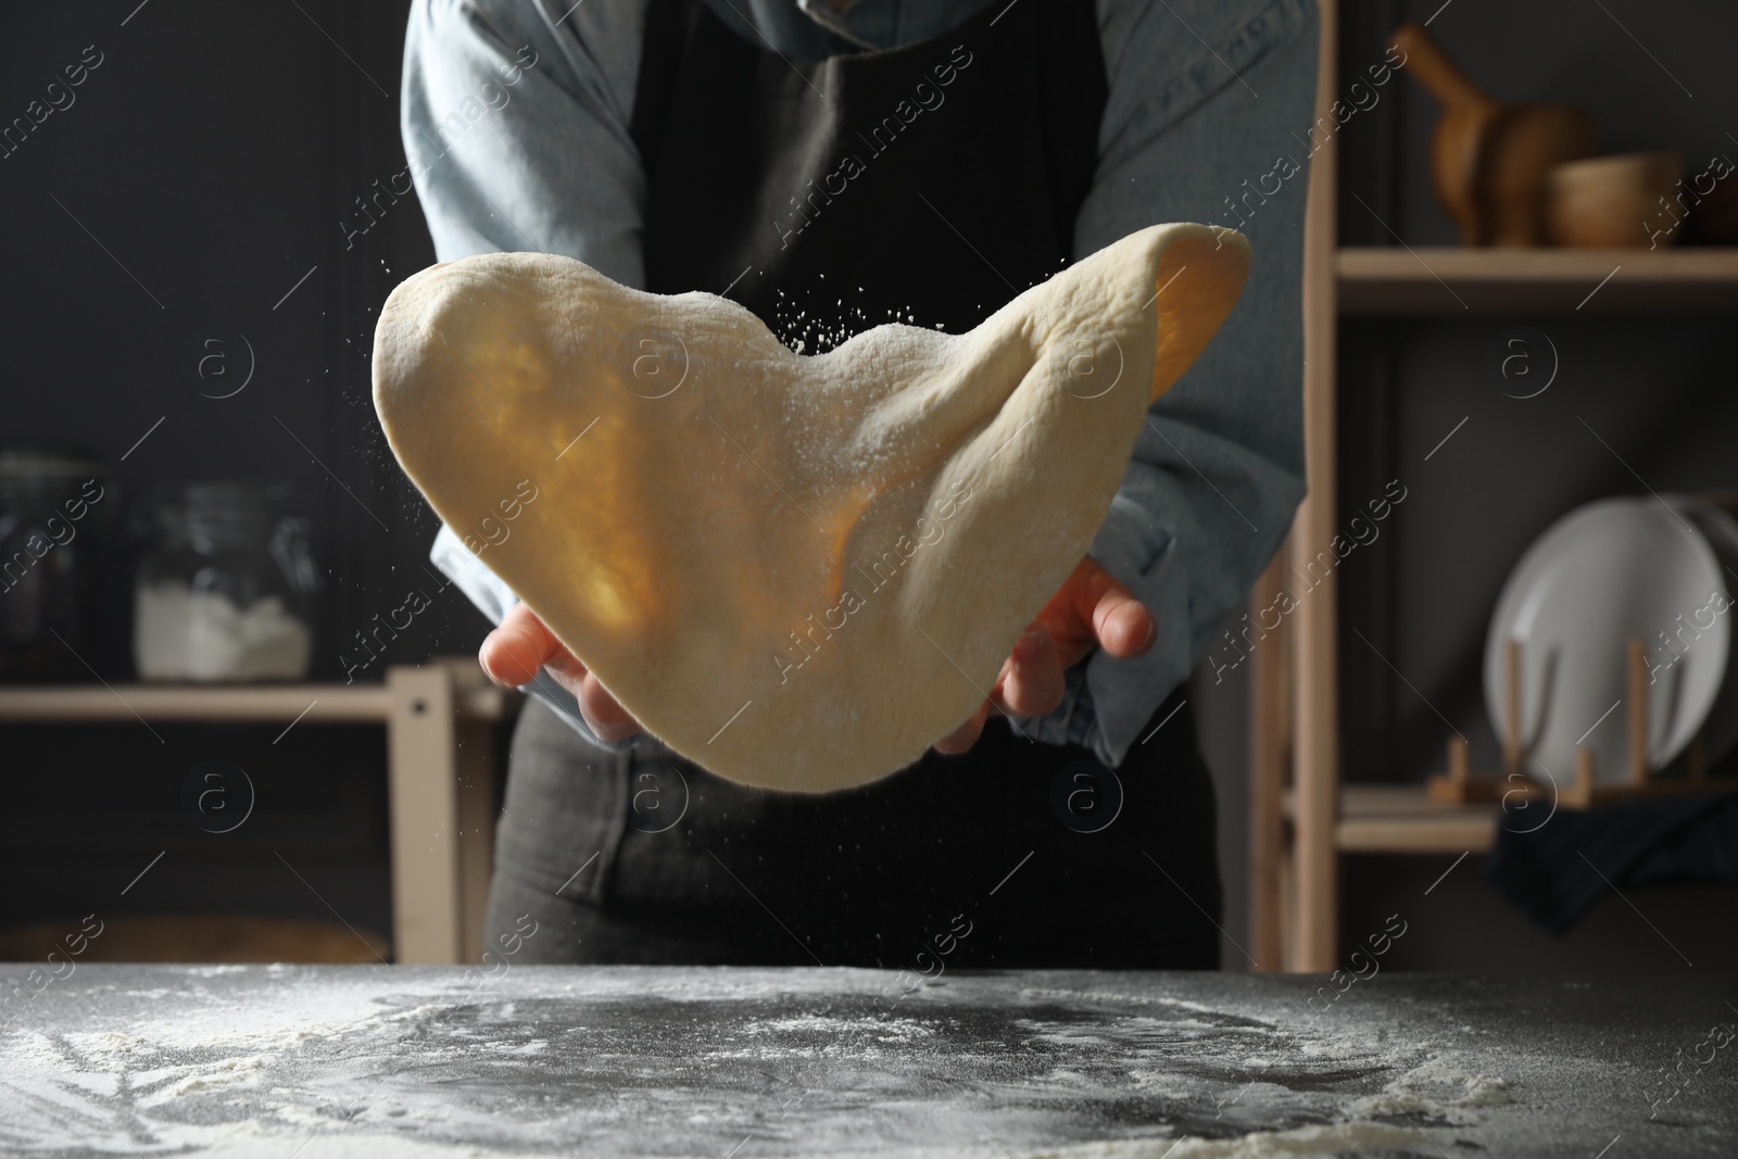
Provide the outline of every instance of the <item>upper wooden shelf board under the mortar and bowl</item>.
{"type": "Polygon", "coordinates": [[[1738,248],[1342,248],[1335,281],[1342,315],[1721,313],[1738,311],[1738,248]]]}

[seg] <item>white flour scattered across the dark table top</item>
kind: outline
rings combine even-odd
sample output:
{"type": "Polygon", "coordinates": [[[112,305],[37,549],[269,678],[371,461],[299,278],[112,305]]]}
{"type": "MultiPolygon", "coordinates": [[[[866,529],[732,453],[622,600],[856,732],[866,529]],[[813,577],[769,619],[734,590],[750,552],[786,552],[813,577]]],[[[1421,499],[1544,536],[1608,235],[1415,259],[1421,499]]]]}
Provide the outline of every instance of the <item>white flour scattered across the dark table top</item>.
{"type": "MultiPolygon", "coordinates": [[[[952,994],[970,999],[977,987],[989,994],[989,982],[965,978],[945,996],[914,996],[912,1017],[867,1018],[841,1010],[839,999],[878,992],[885,975],[791,971],[779,975],[779,985],[819,992],[824,1004],[714,1008],[714,1018],[699,1022],[706,1062],[693,1070],[685,1062],[687,1036],[645,1043],[636,1023],[608,1022],[619,1015],[574,1027],[560,1018],[542,1023],[546,1006],[516,1001],[645,1001],[647,978],[627,971],[587,975],[582,987],[567,977],[514,973],[511,987],[488,994],[414,973],[395,975],[389,985],[372,971],[318,975],[318,982],[289,970],[261,973],[264,987],[236,989],[228,978],[189,971],[176,1001],[137,1001],[156,990],[134,987],[137,1004],[125,1015],[0,1034],[0,1105],[16,1107],[16,1116],[0,1114],[0,1154],[26,1142],[31,1156],[563,1154],[556,1138],[570,1142],[587,1131],[586,1138],[598,1138],[600,1129],[617,1142],[636,1138],[634,1131],[680,1103],[666,1084],[690,1081],[720,1084],[714,1098],[683,1107],[693,1124],[735,1129],[742,1123],[747,1135],[760,1123],[768,1142],[803,1138],[813,1143],[808,1154],[841,1159],[859,1154],[853,1131],[869,1105],[878,1123],[893,1123],[892,1135],[905,1140],[900,1154],[923,1159],[1005,1150],[1034,1159],[1436,1156],[1432,1138],[1449,1150],[1467,1145],[1453,1138],[1456,1131],[1465,1136],[1463,1128],[1488,1138],[1486,1109],[1516,1102],[1516,1088],[1528,1091],[1529,1114],[1550,1105],[1524,1056],[1502,1053],[1503,1072],[1519,1076],[1512,1086],[1493,1074],[1488,1053],[1463,1050],[1453,1034],[1411,1037],[1370,1018],[1304,1023],[1283,1003],[1208,1006],[1164,994],[1069,989],[1064,978],[1053,989],[1024,989],[1024,1010],[1017,1003],[980,1022],[999,1003],[961,1003],[952,994]],[[1048,999],[1100,1010],[1076,1022],[1079,1015],[1057,1013],[1048,999]],[[1105,1069],[1105,1046],[1126,1062],[1105,1069]],[[591,1070],[587,1058],[600,1051],[615,1062],[591,1070]],[[841,1060],[853,1077],[836,1089],[824,1086],[824,1076],[834,1074],[824,1067],[841,1060]],[[478,1074],[480,1062],[487,1079],[452,1083],[478,1074]],[[570,1095],[539,1088],[546,1072],[577,1084],[561,1088],[570,1095]],[[608,1076],[608,1086],[589,1086],[589,1076],[608,1076]],[[629,1076],[626,1086],[619,1076],[629,1076]],[[944,1110],[952,1123],[940,1133],[925,1116],[942,1109],[911,1095],[932,1083],[965,1100],[958,1112],[944,1110]],[[1025,1089],[1036,1102],[1018,1095],[1025,1089]],[[1097,1100],[1164,1105],[1164,1117],[1147,1129],[1170,1123],[1171,1133],[1036,1150],[1055,1138],[1045,1133],[1051,1110],[1074,1114],[1097,1100]],[[973,1149],[972,1140],[984,1138],[978,1116],[1006,1140],[1005,1150],[973,1149]],[[469,1138],[476,1143],[455,1142],[469,1138]]],[[[766,1001],[765,978],[747,973],[706,983],[667,975],[653,983],[660,1003],[688,994],[766,1001]]],[[[1074,1138],[1128,1126],[1111,1117],[1074,1138]]],[[[733,1135],[718,1154],[740,1140],[733,1135]]]]}

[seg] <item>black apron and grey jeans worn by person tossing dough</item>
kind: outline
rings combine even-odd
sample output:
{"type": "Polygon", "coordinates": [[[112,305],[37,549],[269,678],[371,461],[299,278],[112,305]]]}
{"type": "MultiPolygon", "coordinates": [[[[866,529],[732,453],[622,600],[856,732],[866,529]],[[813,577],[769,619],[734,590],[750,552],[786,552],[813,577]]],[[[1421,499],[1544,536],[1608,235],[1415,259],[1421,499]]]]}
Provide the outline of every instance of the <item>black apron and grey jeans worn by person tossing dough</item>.
{"type": "MultiPolygon", "coordinates": [[[[1071,257],[1104,101],[1090,0],[992,0],[824,61],[652,0],[647,288],[728,292],[803,353],[892,318],[965,332],[1071,257]]],[[[992,718],[961,758],[819,798],[650,737],[607,752],[532,702],[490,938],[530,914],[516,961],[1213,968],[1213,789],[1182,695],[1114,772],[992,718]]]]}

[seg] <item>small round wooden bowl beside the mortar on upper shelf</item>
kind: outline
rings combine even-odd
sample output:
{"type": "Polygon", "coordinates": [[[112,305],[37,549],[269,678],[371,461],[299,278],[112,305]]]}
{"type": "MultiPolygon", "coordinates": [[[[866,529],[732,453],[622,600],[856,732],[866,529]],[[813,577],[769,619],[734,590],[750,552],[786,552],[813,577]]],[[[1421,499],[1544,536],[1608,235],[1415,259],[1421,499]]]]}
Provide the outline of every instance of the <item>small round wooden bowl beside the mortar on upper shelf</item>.
{"type": "Polygon", "coordinates": [[[1672,245],[1682,231],[1667,205],[1682,212],[1672,200],[1682,176],[1682,153],[1623,153],[1557,165],[1547,182],[1550,240],[1575,248],[1672,245]]]}

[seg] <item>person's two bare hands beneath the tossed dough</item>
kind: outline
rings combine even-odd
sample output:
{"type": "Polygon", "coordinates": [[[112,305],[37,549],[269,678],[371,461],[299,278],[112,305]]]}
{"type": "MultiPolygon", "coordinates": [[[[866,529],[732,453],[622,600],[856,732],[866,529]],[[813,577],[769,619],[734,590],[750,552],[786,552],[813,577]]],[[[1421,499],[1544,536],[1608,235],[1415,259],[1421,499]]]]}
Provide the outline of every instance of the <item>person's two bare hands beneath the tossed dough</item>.
{"type": "MultiPolygon", "coordinates": [[[[1085,556],[1062,589],[1015,641],[991,686],[989,700],[972,718],[935,742],[937,752],[965,752],[977,744],[991,711],[1043,716],[1062,704],[1062,671],[1093,648],[1114,657],[1137,657],[1152,646],[1159,629],[1147,606],[1091,556],[1085,556]]],[[[640,721],[615,702],[598,678],[554,638],[523,603],[513,605],[501,627],[488,632],[476,655],[497,685],[518,688],[547,667],[549,676],[574,693],[586,725],[598,740],[626,740],[640,721]]]]}

